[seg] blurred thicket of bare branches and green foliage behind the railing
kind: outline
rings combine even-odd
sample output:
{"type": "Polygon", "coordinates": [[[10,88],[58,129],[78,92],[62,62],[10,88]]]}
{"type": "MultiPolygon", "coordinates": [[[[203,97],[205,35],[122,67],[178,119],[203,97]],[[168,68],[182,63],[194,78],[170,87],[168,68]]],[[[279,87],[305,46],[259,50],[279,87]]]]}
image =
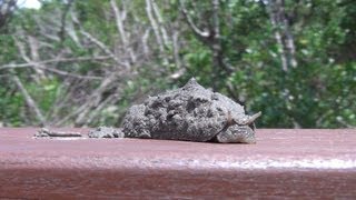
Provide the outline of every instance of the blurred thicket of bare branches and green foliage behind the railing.
{"type": "Polygon", "coordinates": [[[0,0],[0,127],[118,127],[191,77],[259,128],[356,127],[356,3],[0,0]]]}

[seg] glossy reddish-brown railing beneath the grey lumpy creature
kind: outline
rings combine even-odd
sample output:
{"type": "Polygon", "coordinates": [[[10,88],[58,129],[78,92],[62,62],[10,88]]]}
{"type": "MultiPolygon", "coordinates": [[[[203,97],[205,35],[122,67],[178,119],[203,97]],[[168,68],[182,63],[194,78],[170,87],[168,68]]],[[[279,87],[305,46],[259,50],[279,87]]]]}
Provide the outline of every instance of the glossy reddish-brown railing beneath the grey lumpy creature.
{"type": "Polygon", "coordinates": [[[355,129],[263,129],[256,144],[33,139],[36,130],[0,129],[0,199],[356,199],[355,129]]]}

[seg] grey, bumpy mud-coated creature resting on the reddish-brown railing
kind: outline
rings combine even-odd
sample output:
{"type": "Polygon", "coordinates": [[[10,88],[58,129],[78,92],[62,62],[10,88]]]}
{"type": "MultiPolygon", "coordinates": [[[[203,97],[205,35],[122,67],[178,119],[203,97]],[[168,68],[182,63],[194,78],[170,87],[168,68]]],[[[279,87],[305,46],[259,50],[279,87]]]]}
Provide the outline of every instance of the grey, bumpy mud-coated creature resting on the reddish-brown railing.
{"type": "Polygon", "coordinates": [[[122,123],[125,138],[255,143],[254,116],[192,78],[177,90],[132,106],[122,123]]]}

